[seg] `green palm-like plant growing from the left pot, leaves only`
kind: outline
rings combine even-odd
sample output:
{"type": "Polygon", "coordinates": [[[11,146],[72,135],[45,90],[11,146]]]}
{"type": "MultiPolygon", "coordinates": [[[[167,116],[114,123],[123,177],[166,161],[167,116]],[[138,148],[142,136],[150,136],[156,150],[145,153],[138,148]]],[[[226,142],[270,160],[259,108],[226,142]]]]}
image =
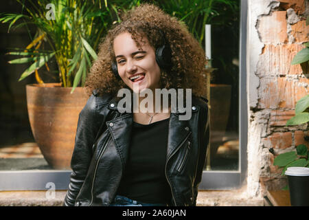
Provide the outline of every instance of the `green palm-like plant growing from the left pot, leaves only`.
{"type": "Polygon", "coordinates": [[[38,69],[46,65],[48,70],[47,61],[55,56],[62,86],[73,86],[73,89],[78,85],[83,86],[87,69],[91,66],[91,58],[97,57],[93,48],[98,45],[102,32],[110,23],[106,19],[110,18],[108,10],[100,10],[101,1],[16,1],[21,3],[26,13],[2,14],[0,21],[10,22],[8,31],[13,25],[14,28],[20,28],[33,24],[37,28],[33,41],[25,50],[9,53],[25,56],[10,63],[32,63],[19,80],[35,73],[38,83],[43,84],[38,69]],[[54,6],[50,8],[52,19],[47,17],[47,12],[51,12],[47,10],[47,5],[54,6]],[[15,25],[18,20],[23,21],[15,25]],[[43,41],[46,41],[52,50],[44,50],[43,41]]]}

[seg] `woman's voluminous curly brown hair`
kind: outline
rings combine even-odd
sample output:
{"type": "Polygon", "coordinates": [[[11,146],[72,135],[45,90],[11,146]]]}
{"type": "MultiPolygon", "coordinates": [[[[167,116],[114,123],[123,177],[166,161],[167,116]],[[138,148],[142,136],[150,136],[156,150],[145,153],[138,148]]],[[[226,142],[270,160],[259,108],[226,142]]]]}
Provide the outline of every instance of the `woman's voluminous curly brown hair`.
{"type": "Polygon", "coordinates": [[[184,23],[149,3],[139,5],[121,18],[122,22],[112,27],[99,45],[98,59],[93,63],[86,81],[89,95],[93,89],[100,94],[114,96],[117,96],[119,89],[129,89],[122,80],[115,78],[111,69],[111,63],[115,60],[113,41],[117,35],[129,32],[139,48],[139,41],[146,36],[156,51],[164,42],[161,34],[165,43],[170,45],[172,67],[168,72],[161,69],[161,89],[192,89],[192,95],[207,97],[209,72],[205,68],[205,52],[184,23]]]}

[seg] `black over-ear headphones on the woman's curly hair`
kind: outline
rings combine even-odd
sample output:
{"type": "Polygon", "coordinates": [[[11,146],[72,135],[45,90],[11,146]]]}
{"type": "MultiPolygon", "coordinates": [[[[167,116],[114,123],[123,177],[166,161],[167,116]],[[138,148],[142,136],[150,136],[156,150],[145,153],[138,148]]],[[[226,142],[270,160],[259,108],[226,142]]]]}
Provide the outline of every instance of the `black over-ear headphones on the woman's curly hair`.
{"type": "MultiPolygon", "coordinates": [[[[171,63],[171,57],[172,57],[172,52],[170,50],[170,46],[165,43],[165,37],[163,35],[163,32],[161,32],[161,36],[163,37],[163,45],[161,47],[158,47],[156,50],[156,61],[160,67],[160,69],[170,69],[172,63],[171,63]]],[[[118,74],[118,68],[117,68],[117,63],[114,60],[111,63],[111,69],[113,71],[113,74],[115,77],[120,80],[121,77],[118,74]]]]}

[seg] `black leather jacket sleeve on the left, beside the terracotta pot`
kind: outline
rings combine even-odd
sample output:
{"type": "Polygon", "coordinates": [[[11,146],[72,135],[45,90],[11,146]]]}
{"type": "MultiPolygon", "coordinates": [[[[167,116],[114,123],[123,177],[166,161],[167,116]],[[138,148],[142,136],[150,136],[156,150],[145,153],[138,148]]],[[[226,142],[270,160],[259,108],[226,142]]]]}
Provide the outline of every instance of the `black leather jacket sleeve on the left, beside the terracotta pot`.
{"type": "Polygon", "coordinates": [[[96,105],[96,97],[92,95],[78,118],[75,146],[71,158],[72,173],[63,206],[74,206],[78,192],[80,192],[80,188],[88,172],[93,154],[93,142],[98,133],[98,126],[100,126],[96,105]]]}

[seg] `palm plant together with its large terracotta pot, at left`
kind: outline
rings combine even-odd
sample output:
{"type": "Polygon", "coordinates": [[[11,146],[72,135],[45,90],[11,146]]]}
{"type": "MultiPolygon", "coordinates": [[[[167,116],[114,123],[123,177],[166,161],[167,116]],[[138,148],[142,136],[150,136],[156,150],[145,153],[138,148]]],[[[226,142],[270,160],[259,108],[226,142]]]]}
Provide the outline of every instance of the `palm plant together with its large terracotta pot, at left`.
{"type": "Polygon", "coordinates": [[[0,21],[10,23],[8,31],[33,25],[36,34],[27,47],[8,53],[21,56],[9,63],[30,63],[19,80],[36,77],[37,84],[26,86],[34,139],[50,166],[67,169],[78,113],[87,101],[82,87],[97,56],[93,48],[111,23],[111,11],[103,12],[101,3],[94,1],[17,1],[25,12],[1,14],[0,21]],[[39,71],[50,71],[52,58],[58,65],[58,83],[44,83],[39,71]]]}

